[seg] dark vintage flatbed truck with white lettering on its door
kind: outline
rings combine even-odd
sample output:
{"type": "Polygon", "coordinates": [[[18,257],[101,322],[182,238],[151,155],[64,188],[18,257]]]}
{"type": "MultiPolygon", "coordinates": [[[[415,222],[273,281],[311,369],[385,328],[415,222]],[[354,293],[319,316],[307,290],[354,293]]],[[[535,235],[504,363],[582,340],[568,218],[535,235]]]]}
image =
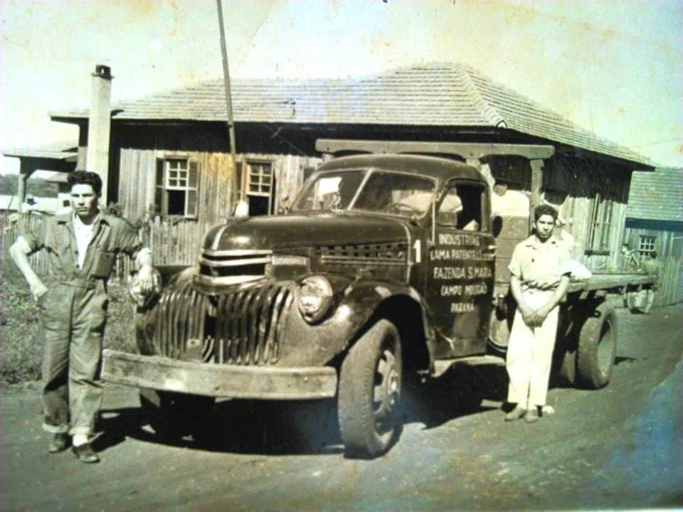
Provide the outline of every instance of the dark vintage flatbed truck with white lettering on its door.
{"type": "MultiPolygon", "coordinates": [[[[376,457],[401,432],[408,376],[502,364],[514,302],[497,266],[529,235],[528,215],[492,217],[487,182],[443,157],[448,144],[381,148],[322,164],[285,215],[211,228],[198,266],[139,311],[138,353],[106,350],[102,378],[140,388],[159,432],[215,398],[336,398],[346,454],[376,457]],[[497,252],[497,237],[508,250],[497,252]]],[[[564,378],[608,382],[617,325],[605,291],[650,283],[572,282],[558,336],[564,378]]]]}

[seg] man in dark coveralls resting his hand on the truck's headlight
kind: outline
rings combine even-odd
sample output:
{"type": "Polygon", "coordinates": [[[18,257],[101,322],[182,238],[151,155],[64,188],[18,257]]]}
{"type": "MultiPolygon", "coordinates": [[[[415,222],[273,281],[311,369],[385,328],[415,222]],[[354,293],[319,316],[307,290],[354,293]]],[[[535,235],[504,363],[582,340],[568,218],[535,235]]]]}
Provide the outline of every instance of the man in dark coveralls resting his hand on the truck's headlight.
{"type": "Polygon", "coordinates": [[[73,436],[73,452],[82,462],[99,462],[90,445],[102,403],[99,379],[102,334],[107,314],[107,279],[118,252],[136,257],[142,292],[154,288],[152,253],[142,248],[125,220],[97,208],[102,180],[92,172],[68,177],[73,213],[48,218],[19,237],[10,255],[26,278],[41,309],[46,334],[43,355],[43,429],[53,433],[48,451],[62,452],[73,436]],[[50,255],[48,289],[33,272],[28,255],[50,255]]]}

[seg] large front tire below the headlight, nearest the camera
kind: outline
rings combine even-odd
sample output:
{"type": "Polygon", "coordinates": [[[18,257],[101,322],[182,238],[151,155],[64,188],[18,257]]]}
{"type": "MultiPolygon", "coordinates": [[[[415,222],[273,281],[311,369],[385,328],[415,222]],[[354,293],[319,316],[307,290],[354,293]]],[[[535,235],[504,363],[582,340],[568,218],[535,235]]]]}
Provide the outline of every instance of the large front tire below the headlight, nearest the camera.
{"type": "Polygon", "coordinates": [[[378,457],[398,439],[402,370],[401,338],[388,320],[374,324],[344,358],[338,414],[347,457],[378,457]]]}

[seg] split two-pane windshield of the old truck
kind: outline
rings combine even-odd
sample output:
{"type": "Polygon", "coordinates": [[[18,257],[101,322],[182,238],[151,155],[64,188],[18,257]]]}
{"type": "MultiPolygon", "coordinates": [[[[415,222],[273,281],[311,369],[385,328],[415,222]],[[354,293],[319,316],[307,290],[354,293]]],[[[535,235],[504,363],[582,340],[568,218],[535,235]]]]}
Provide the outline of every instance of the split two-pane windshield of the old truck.
{"type": "Polygon", "coordinates": [[[431,178],[391,171],[329,171],[309,183],[293,211],[359,210],[420,217],[429,209],[431,178]]]}

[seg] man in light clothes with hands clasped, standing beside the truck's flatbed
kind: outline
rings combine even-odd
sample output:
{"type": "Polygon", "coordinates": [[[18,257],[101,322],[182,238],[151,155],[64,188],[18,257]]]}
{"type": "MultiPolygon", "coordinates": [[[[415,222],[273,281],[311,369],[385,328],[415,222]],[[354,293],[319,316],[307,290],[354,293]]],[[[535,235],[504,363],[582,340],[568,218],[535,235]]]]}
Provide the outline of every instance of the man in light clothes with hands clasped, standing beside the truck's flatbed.
{"type": "Polygon", "coordinates": [[[510,289],[517,301],[507,349],[510,378],[507,401],[516,404],[506,421],[533,423],[546,403],[553,348],[557,336],[558,303],[569,285],[566,247],[553,238],[557,211],[534,209],[534,234],[514,248],[510,289]]]}

